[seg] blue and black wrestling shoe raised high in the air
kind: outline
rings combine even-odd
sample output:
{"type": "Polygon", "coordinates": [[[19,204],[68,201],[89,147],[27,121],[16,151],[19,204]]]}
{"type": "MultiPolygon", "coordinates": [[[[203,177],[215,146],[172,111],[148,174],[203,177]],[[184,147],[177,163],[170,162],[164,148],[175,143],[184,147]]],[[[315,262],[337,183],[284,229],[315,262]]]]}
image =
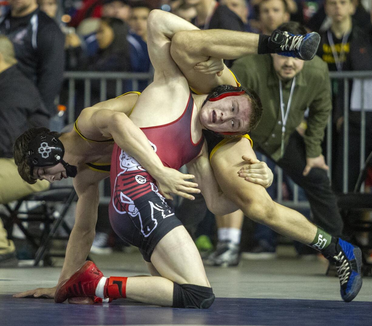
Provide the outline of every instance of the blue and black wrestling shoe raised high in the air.
{"type": "Polygon", "coordinates": [[[317,53],[320,35],[316,32],[294,35],[276,29],[269,38],[269,43],[271,42],[274,45],[275,52],[280,55],[311,60],[317,53]]]}

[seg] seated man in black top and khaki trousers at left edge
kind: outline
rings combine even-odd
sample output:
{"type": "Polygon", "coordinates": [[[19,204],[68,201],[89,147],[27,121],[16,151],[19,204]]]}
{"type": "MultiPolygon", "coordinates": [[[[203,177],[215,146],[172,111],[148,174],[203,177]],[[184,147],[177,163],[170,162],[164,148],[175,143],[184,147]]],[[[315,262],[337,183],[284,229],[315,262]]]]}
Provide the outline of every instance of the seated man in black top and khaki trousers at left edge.
{"type": "MultiPolygon", "coordinates": [[[[38,91],[16,63],[12,42],[0,35],[0,204],[49,187],[46,180],[25,183],[14,163],[13,144],[19,133],[32,126],[48,126],[49,120],[38,91]]],[[[0,267],[16,264],[14,243],[7,239],[0,219],[0,267]]]]}

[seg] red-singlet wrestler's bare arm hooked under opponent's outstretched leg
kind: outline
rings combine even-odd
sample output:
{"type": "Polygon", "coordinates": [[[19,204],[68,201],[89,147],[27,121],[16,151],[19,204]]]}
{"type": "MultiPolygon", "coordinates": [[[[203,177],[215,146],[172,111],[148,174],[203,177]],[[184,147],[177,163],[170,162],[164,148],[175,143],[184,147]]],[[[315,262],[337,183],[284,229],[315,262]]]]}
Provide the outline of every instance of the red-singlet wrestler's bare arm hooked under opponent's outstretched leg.
{"type": "Polygon", "coordinates": [[[187,170],[195,175],[195,181],[200,185],[201,193],[208,209],[212,213],[224,215],[238,210],[238,207],[219,188],[211,164],[209,163],[208,149],[205,143],[201,154],[186,164],[186,166],[187,170]]]}

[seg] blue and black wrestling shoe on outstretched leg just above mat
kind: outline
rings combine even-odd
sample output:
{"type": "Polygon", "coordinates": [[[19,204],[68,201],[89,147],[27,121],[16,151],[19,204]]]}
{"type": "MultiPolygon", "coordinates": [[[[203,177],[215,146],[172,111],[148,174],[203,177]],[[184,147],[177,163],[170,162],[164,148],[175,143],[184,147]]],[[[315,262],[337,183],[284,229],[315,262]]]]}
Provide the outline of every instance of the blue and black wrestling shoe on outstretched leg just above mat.
{"type": "Polygon", "coordinates": [[[349,302],[356,297],[362,287],[362,251],[342,239],[338,239],[336,251],[333,257],[326,257],[336,265],[340,278],[341,297],[349,302]]]}

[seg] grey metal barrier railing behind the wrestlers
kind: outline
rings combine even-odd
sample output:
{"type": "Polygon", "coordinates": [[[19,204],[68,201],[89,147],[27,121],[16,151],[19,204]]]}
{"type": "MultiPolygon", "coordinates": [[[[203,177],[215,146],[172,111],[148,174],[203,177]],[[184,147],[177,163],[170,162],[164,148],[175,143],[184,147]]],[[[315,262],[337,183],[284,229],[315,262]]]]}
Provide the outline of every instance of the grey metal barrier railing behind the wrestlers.
{"type": "MultiPolygon", "coordinates": [[[[138,90],[138,81],[147,80],[150,83],[153,80],[153,72],[149,73],[137,73],[137,72],[80,72],[80,71],[67,71],[64,73],[65,79],[68,80],[68,123],[74,123],[75,119],[75,81],[84,80],[84,107],[88,107],[95,103],[91,102],[91,82],[92,80],[100,81],[100,101],[107,100],[107,81],[115,80],[116,81],[116,96],[122,94],[123,81],[131,80],[132,81],[132,90],[138,90]]],[[[343,155],[343,191],[347,192],[348,184],[348,126],[349,126],[349,80],[357,79],[360,80],[360,167],[363,167],[366,153],[365,153],[365,142],[366,142],[366,104],[371,105],[371,103],[365,103],[365,82],[366,80],[372,79],[372,71],[344,71],[344,72],[330,72],[331,80],[334,79],[343,79],[344,81],[344,155],[343,155]]],[[[83,109],[83,108],[80,108],[83,109]]],[[[327,125],[327,165],[330,168],[328,175],[331,175],[332,169],[332,122],[331,118],[328,120],[327,125]]],[[[292,208],[307,208],[309,204],[307,201],[298,200],[298,186],[294,185],[294,198],[293,200],[283,200],[282,194],[282,170],[276,167],[276,172],[278,175],[278,189],[277,189],[277,201],[280,204],[283,204],[292,208]]],[[[101,192],[103,193],[103,192],[101,192]]],[[[102,195],[101,195],[102,196],[102,195]]],[[[107,202],[109,198],[107,196],[102,196],[101,201],[107,202]]]]}

